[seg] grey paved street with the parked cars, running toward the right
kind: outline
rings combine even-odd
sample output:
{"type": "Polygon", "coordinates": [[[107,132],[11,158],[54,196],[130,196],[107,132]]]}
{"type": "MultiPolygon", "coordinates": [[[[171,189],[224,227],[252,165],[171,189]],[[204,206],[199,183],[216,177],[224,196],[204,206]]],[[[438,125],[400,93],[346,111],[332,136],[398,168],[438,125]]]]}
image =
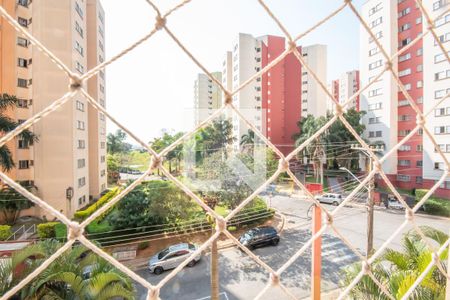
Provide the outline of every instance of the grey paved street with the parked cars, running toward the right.
{"type": "MultiPolygon", "coordinates": [[[[310,203],[300,198],[275,196],[271,205],[283,212],[287,218],[286,229],[276,247],[266,247],[254,251],[264,262],[274,269],[283,265],[311,237],[310,220],[306,211],[310,203]]],[[[326,206],[332,210],[335,207],[326,206]]],[[[399,211],[375,211],[375,248],[379,247],[405,220],[399,211]]],[[[441,230],[448,230],[448,219],[417,216],[419,225],[429,225],[441,230]]],[[[343,208],[335,219],[338,230],[364,254],[366,239],[366,214],[364,209],[343,208]]],[[[409,227],[410,228],[410,227],[409,227]]],[[[408,229],[406,229],[408,230],[408,229]]],[[[401,235],[391,244],[400,247],[401,235]]],[[[328,231],[322,245],[323,282],[322,291],[338,287],[343,268],[356,262],[358,257],[333,232],[328,231]]],[[[220,252],[220,291],[221,299],[253,299],[264,288],[269,275],[251,258],[241,251],[231,248],[220,252]]],[[[297,296],[308,297],[310,294],[310,251],[304,253],[282,274],[281,281],[297,296]]],[[[209,256],[193,268],[186,268],[169,281],[161,291],[161,299],[206,300],[210,291],[209,256]],[[206,297],[206,298],[205,298],[206,297]]],[[[150,274],[148,270],[138,273],[152,283],[157,283],[167,276],[150,274]]],[[[138,287],[138,299],[145,299],[145,290],[138,287]]],[[[263,299],[287,299],[279,289],[269,290],[263,299]]]]}

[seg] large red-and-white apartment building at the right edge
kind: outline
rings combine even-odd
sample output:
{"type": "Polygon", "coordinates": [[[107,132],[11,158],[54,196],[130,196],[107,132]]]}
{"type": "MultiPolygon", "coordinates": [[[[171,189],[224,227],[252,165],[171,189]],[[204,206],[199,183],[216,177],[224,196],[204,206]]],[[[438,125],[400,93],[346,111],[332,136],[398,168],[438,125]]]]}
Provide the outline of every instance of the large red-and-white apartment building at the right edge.
{"type": "MultiPolygon", "coordinates": [[[[448,7],[446,1],[427,0],[423,3],[434,16],[448,7]]],[[[427,26],[414,0],[369,0],[363,5],[362,13],[390,56],[408,46],[427,26]]],[[[450,31],[450,16],[447,15],[438,21],[437,31],[442,41],[445,41],[450,31]]],[[[361,28],[360,37],[361,85],[364,86],[383,70],[385,60],[364,28],[361,28]]],[[[439,56],[439,51],[430,35],[413,46],[409,45],[394,61],[394,70],[420,110],[431,108],[437,101],[435,92],[439,99],[441,94],[445,94],[446,86],[449,86],[444,75],[449,69],[448,62],[444,61],[442,55],[439,56]],[[442,75],[440,72],[443,72],[442,75]]],[[[360,106],[361,110],[367,111],[363,120],[366,125],[365,137],[371,143],[385,144],[387,149],[394,147],[416,126],[416,114],[389,72],[362,93],[360,106]]],[[[442,108],[445,111],[445,106],[442,108]]],[[[441,118],[439,113],[440,110],[427,117],[427,126],[444,145],[441,148],[445,149],[445,140],[448,139],[445,136],[445,114],[441,118]],[[444,130],[441,133],[442,128],[444,130]]],[[[427,142],[427,138],[424,141],[423,131],[419,130],[383,164],[383,169],[397,187],[429,188],[437,180],[438,174],[442,174],[440,163],[434,147],[427,142]]],[[[450,197],[450,184],[444,183],[436,195],[450,197]]]]}

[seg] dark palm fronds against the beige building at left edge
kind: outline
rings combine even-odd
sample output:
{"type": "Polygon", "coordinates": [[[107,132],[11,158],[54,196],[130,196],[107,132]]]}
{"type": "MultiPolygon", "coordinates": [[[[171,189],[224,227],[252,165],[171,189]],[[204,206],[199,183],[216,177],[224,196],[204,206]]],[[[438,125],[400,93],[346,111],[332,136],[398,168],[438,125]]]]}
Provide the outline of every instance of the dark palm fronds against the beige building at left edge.
{"type": "MultiPolygon", "coordinates": [[[[15,96],[0,94],[0,136],[20,125],[19,122],[7,116],[7,110],[17,107],[18,102],[15,96]]],[[[17,137],[27,145],[32,145],[33,142],[38,140],[37,136],[28,129],[23,130],[17,137]]],[[[11,150],[7,145],[0,147],[0,166],[3,171],[10,171],[15,166],[11,150]]]]}

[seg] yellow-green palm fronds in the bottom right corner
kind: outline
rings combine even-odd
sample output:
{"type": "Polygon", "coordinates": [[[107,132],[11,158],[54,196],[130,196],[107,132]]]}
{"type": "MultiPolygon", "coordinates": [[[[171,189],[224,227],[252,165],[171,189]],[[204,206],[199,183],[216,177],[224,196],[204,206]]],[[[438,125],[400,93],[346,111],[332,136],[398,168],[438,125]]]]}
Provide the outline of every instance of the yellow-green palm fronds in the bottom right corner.
{"type": "MultiPolygon", "coordinates": [[[[426,237],[439,246],[442,246],[449,238],[444,232],[428,226],[422,226],[420,229],[426,237]]],[[[402,246],[402,252],[387,249],[371,267],[375,277],[396,299],[405,295],[431,262],[433,254],[416,232],[406,234],[402,239],[402,246]]],[[[445,250],[440,259],[446,261],[447,257],[448,250],[445,250]]],[[[350,266],[344,272],[342,284],[349,285],[360,271],[360,263],[350,266]]],[[[409,299],[444,299],[445,286],[446,277],[436,266],[433,266],[409,299]]],[[[352,299],[389,299],[367,275],[363,276],[352,289],[350,297],[352,299]]]]}

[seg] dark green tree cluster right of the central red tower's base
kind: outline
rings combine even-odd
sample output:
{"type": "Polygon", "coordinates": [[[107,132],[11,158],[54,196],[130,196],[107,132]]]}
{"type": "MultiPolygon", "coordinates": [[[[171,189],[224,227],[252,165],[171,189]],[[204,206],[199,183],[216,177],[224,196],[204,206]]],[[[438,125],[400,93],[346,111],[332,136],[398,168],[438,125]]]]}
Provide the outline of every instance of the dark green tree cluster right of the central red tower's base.
{"type": "MultiPolygon", "coordinates": [[[[359,135],[365,129],[365,126],[361,123],[361,118],[364,115],[364,111],[358,112],[354,109],[350,109],[344,113],[344,118],[359,135]]],[[[311,138],[331,118],[331,115],[318,118],[308,115],[306,118],[302,118],[297,123],[300,132],[292,136],[296,146],[301,145],[311,138]]],[[[325,160],[328,161],[328,167],[333,169],[339,169],[341,166],[349,169],[358,168],[358,153],[351,150],[352,143],[358,142],[353,134],[344,126],[342,121],[337,120],[323,134],[312,140],[300,154],[301,156],[308,157],[312,161],[314,175],[318,178],[320,165],[325,160]],[[336,147],[335,145],[337,144],[342,145],[342,147],[336,147]],[[327,145],[331,145],[329,149],[327,145]]]]}

